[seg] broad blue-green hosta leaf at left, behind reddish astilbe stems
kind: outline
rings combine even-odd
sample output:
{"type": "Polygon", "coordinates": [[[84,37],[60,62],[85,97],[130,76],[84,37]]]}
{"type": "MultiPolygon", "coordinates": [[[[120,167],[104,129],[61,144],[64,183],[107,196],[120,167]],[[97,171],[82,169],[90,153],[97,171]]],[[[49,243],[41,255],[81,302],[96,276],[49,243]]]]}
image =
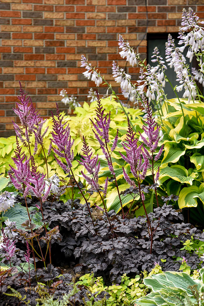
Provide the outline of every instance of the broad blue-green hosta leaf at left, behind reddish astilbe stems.
{"type": "MultiPolygon", "coordinates": [[[[35,207],[28,208],[28,211],[35,210],[35,207]]],[[[17,229],[24,229],[21,226],[26,220],[28,220],[27,209],[24,206],[21,206],[20,203],[15,204],[8,211],[6,211],[3,215],[4,217],[9,218],[9,221],[16,222],[17,229]]],[[[35,215],[32,216],[32,223],[35,224],[36,227],[43,226],[42,223],[42,215],[39,212],[36,212],[35,215]]]]}

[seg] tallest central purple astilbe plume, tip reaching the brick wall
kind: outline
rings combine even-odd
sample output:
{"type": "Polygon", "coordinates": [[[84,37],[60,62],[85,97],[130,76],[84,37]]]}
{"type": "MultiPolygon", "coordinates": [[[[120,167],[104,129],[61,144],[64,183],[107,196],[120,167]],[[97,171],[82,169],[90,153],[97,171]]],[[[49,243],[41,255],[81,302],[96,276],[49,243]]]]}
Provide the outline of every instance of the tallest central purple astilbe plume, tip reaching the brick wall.
{"type": "MultiPolygon", "coordinates": [[[[91,120],[96,132],[93,130],[95,138],[98,140],[98,143],[101,146],[102,152],[106,157],[106,160],[108,162],[108,167],[109,170],[111,172],[111,174],[115,175],[114,170],[113,170],[113,165],[111,162],[111,158],[108,152],[108,146],[107,144],[110,142],[109,140],[109,126],[110,126],[110,112],[109,114],[104,115],[104,111],[105,109],[103,109],[101,101],[99,99],[99,95],[97,92],[97,102],[98,102],[98,106],[96,108],[96,116],[97,118],[95,119],[95,123],[91,120]],[[101,138],[99,136],[101,136],[101,138]],[[104,141],[103,141],[104,140],[104,141]]],[[[116,146],[117,146],[117,140],[118,140],[118,129],[117,129],[117,133],[115,136],[115,139],[113,141],[113,145],[111,147],[111,152],[115,150],[116,146]]]]}

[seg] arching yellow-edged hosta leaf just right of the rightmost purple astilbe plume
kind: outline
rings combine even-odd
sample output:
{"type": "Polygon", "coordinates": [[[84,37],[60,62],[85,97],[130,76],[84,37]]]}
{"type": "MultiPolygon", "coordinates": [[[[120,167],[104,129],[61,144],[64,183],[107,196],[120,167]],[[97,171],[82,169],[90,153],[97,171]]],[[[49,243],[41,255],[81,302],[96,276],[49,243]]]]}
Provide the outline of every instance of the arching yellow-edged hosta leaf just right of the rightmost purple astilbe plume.
{"type": "Polygon", "coordinates": [[[174,181],[192,185],[193,177],[188,176],[186,168],[180,165],[172,165],[160,169],[159,182],[162,184],[166,179],[172,178],[174,181]]]}

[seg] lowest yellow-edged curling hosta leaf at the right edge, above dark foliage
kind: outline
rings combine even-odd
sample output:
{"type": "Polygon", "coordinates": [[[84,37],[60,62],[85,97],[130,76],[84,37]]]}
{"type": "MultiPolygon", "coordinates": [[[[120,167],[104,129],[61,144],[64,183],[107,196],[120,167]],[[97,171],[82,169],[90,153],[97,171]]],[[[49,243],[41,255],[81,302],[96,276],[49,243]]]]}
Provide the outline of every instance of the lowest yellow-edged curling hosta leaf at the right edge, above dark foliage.
{"type": "Polygon", "coordinates": [[[198,186],[184,187],[179,194],[179,208],[196,207],[198,205],[197,198],[204,204],[204,183],[198,186]]]}

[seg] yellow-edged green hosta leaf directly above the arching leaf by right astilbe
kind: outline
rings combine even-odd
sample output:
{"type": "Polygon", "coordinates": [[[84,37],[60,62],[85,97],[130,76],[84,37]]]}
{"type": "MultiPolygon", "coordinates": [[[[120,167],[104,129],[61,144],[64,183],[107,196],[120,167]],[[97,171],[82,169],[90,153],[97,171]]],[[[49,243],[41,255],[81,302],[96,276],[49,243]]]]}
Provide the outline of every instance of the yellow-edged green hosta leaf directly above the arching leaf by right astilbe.
{"type": "Polygon", "coordinates": [[[175,142],[166,142],[164,150],[164,158],[162,159],[161,164],[177,162],[186,151],[186,149],[181,150],[175,142]]]}

